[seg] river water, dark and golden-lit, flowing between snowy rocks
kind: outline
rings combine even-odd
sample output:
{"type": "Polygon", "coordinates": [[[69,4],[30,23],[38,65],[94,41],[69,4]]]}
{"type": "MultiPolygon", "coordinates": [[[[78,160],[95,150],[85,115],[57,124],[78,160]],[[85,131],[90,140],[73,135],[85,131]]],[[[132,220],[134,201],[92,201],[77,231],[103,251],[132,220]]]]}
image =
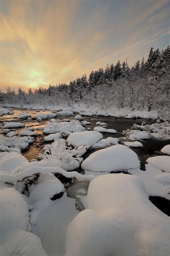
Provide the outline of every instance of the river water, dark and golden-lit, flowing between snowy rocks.
{"type": "MultiPolygon", "coordinates": [[[[17,132],[19,133],[18,136],[20,136],[20,133],[23,130],[26,130],[28,127],[32,126],[34,128],[34,131],[37,133],[37,137],[36,140],[34,141],[33,144],[31,144],[29,146],[29,148],[25,151],[23,151],[23,156],[25,156],[29,161],[32,159],[36,159],[39,153],[43,154],[43,147],[45,144],[51,144],[50,142],[45,143],[43,141],[43,130],[37,130],[37,128],[39,127],[43,127],[45,126],[49,120],[44,120],[42,122],[37,122],[36,121],[36,116],[38,113],[51,113],[51,111],[41,111],[41,112],[36,112],[36,110],[25,110],[25,109],[17,109],[17,108],[11,108],[14,112],[13,115],[5,115],[0,117],[0,133],[3,130],[3,125],[2,122],[4,121],[10,121],[10,122],[22,122],[25,124],[24,128],[17,128],[17,132]],[[18,120],[18,116],[21,113],[25,113],[28,112],[31,114],[31,118],[33,119],[33,121],[27,121],[27,120],[18,120]]],[[[74,120],[74,117],[59,117],[57,119],[59,120],[63,120],[65,118],[68,118],[69,120],[74,120]]],[[[113,138],[119,138],[120,143],[124,145],[124,141],[130,141],[128,138],[124,137],[122,135],[122,131],[123,130],[127,130],[130,129],[134,123],[137,123],[138,125],[141,125],[142,122],[146,122],[146,124],[152,124],[155,121],[154,120],[146,120],[143,118],[137,118],[137,119],[126,119],[126,118],[113,118],[113,117],[83,117],[84,120],[88,121],[91,123],[91,125],[86,125],[86,130],[88,127],[90,127],[90,129],[93,131],[93,128],[96,125],[96,122],[100,121],[100,122],[105,122],[107,123],[107,129],[115,129],[117,130],[116,134],[111,134],[111,133],[103,133],[103,138],[107,138],[107,137],[113,137],[113,138]]],[[[6,135],[3,135],[6,136],[6,135]]],[[[162,155],[162,152],[160,151],[161,148],[163,148],[165,145],[170,144],[170,140],[160,140],[160,139],[147,139],[147,140],[143,140],[142,141],[143,147],[142,148],[131,148],[137,155],[139,160],[141,161],[141,170],[145,171],[145,163],[146,163],[146,159],[148,157],[153,157],[153,156],[159,156],[162,155]]],[[[86,154],[83,156],[83,158],[85,159],[86,157],[88,157],[91,153],[100,150],[101,148],[94,148],[91,150],[88,150],[86,152],[86,154]]],[[[70,186],[67,189],[67,193],[70,195],[70,197],[75,197],[75,193],[74,193],[74,188],[76,188],[76,190],[78,190],[78,188],[85,188],[87,190],[88,188],[88,183],[81,183],[77,184],[74,183],[72,184],[72,186],[70,186]]],[[[150,198],[151,202],[154,203],[154,205],[160,205],[160,198],[156,198],[156,197],[151,197],[150,198]]],[[[79,199],[77,199],[77,204],[79,205],[79,209],[82,210],[82,205],[79,202],[79,199]]],[[[167,200],[167,203],[164,201],[164,212],[168,211],[168,206],[169,205],[169,201],[167,200]],[[165,206],[167,204],[167,206],[165,206]]],[[[161,209],[161,207],[157,206],[158,208],[161,209]]]]}

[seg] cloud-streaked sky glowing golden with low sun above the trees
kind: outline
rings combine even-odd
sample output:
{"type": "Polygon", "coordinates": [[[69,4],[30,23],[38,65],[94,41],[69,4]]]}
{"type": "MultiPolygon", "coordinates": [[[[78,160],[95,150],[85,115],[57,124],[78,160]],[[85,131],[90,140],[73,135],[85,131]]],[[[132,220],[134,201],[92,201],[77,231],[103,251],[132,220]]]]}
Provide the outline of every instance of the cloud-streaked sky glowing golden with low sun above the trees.
{"type": "Polygon", "coordinates": [[[170,39],[169,0],[0,0],[0,89],[69,83],[129,66],[170,39]]]}

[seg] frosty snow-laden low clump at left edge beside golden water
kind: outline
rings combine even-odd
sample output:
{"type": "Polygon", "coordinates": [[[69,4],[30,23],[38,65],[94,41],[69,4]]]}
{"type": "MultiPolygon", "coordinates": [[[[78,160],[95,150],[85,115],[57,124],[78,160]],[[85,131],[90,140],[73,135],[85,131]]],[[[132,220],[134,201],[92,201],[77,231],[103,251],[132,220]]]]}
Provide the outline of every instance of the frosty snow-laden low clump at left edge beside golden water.
{"type": "Polygon", "coordinates": [[[18,152],[21,153],[24,149],[27,149],[30,143],[34,142],[34,138],[30,136],[24,136],[18,138],[13,136],[12,138],[7,138],[0,136],[0,152],[18,152]]]}

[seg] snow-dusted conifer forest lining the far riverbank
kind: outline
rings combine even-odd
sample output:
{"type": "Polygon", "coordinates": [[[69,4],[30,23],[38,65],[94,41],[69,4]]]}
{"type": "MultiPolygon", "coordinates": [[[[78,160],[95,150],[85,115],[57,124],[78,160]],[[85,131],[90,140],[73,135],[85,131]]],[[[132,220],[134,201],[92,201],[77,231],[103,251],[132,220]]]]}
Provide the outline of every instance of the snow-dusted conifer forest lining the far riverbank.
{"type": "Polygon", "coordinates": [[[78,77],[70,84],[49,85],[28,92],[19,87],[18,91],[7,87],[0,93],[0,101],[5,104],[40,104],[69,106],[85,104],[100,108],[136,108],[159,112],[167,111],[170,84],[170,48],[150,50],[147,60],[137,60],[132,68],[128,58],[123,63],[107,65],[87,75],[78,77]]]}

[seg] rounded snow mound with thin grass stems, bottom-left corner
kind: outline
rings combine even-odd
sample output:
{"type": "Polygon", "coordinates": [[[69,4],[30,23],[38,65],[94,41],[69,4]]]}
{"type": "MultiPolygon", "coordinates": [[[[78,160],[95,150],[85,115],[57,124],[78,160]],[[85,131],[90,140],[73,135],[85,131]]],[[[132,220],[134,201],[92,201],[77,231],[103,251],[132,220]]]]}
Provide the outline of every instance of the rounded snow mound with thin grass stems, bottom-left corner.
{"type": "Polygon", "coordinates": [[[40,239],[30,233],[29,212],[22,194],[1,184],[1,255],[43,255],[40,239]]]}

